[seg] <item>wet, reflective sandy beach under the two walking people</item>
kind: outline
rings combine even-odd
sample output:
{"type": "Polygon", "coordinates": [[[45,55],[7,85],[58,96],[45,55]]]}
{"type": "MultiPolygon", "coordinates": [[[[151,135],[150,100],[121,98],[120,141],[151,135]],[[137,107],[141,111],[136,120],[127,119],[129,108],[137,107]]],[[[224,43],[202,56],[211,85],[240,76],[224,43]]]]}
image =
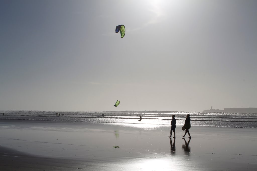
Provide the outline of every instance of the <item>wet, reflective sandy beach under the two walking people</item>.
{"type": "Polygon", "coordinates": [[[0,120],[0,170],[255,170],[257,132],[170,126],[0,120]],[[172,136],[173,137],[173,136],[172,136]],[[113,146],[120,148],[113,148],[113,146]]]}

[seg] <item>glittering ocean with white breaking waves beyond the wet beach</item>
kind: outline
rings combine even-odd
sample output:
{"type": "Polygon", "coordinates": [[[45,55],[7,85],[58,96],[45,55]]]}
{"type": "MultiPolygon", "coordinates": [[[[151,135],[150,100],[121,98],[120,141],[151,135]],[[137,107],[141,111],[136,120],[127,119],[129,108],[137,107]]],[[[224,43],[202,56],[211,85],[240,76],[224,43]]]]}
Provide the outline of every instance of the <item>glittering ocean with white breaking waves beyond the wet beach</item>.
{"type": "MultiPolygon", "coordinates": [[[[95,122],[121,124],[153,124],[170,126],[171,116],[175,115],[176,125],[184,125],[186,115],[190,114],[191,126],[257,128],[257,113],[204,113],[173,111],[37,111],[6,110],[1,111],[0,119],[46,120],[66,122],[95,122]],[[63,116],[56,116],[56,113],[63,116]],[[104,114],[104,117],[102,117],[104,114]],[[139,115],[142,121],[139,122],[139,115]]],[[[136,125],[134,125],[136,126],[136,125]]],[[[147,126],[147,125],[146,125],[147,126]]]]}

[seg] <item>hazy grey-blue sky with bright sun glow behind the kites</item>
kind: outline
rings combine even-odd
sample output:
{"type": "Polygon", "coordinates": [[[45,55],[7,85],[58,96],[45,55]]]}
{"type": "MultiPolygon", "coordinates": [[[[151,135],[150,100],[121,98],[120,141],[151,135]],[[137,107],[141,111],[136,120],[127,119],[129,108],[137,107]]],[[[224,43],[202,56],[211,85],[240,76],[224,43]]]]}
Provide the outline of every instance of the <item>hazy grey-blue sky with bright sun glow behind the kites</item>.
{"type": "Polygon", "coordinates": [[[256,9],[236,0],[1,0],[0,110],[257,107],[256,9]]]}

